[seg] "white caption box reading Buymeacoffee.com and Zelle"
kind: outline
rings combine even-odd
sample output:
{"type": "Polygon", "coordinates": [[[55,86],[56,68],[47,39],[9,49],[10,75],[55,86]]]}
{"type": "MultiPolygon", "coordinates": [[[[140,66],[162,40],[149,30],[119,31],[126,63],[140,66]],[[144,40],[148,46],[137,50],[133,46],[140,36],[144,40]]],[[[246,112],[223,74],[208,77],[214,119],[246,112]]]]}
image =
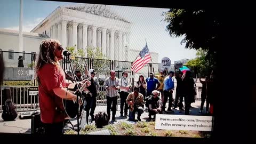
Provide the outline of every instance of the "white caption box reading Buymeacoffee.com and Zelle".
{"type": "Polygon", "coordinates": [[[212,131],[212,116],[156,115],[158,130],[212,131]]]}

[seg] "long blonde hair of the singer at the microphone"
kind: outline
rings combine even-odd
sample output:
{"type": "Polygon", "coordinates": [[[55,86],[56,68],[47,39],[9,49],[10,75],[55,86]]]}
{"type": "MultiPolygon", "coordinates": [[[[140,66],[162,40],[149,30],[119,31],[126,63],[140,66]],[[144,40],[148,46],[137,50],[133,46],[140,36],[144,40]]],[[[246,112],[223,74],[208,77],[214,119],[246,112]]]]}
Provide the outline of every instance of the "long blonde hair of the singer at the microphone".
{"type": "Polygon", "coordinates": [[[37,77],[38,70],[42,68],[44,64],[51,63],[54,66],[60,65],[54,54],[59,45],[60,42],[55,39],[45,39],[41,42],[35,62],[35,78],[37,77]]]}

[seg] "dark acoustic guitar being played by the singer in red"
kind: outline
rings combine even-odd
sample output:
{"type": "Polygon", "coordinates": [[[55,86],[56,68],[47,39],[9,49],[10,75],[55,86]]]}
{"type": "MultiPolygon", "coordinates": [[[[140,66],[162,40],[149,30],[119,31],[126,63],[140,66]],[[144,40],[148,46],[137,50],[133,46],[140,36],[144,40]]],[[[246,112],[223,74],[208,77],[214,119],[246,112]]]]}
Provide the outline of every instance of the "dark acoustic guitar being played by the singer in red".
{"type": "MultiPolygon", "coordinates": [[[[76,90],[78,90],[81,93],[85,93],[85,94],[90,94],[90,91],[86,88],[88,85],[87,82],[85,82],[81,88],[77,89],[77,85],[75,83],[73,84],[69,84],[67,89],[69,92],[71,93],[75,93],[76,90]]],[[[61,110],[65,110],[66,115],[68,116],[68,118],[75,118],[77,116],[77,110],[79,107],[79,103],[77,103],[77,101],[74,103],[73,100],[66,100],[66,99],[62,99],[62,105],[61,105],[61,110]]],[[[83,105],[83,103],[82,103],[83,105]]]]}

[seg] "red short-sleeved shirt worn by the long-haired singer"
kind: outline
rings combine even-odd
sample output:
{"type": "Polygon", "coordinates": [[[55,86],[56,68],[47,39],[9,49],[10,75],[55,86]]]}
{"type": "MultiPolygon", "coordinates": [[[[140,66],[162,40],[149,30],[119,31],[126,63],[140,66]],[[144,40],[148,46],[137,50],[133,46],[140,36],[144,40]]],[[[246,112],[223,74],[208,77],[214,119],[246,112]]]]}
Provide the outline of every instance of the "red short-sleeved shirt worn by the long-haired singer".
{"type": "Polygon", "coordinates": [[[52,89],[66,87],[64,71],[59,66],[47,63],[38,70],[38,77],[40,79],[38,92],[41,121],[43,123],[63,122],[65,111],[60,111],[63,108],[62,99],[52,89]]]}

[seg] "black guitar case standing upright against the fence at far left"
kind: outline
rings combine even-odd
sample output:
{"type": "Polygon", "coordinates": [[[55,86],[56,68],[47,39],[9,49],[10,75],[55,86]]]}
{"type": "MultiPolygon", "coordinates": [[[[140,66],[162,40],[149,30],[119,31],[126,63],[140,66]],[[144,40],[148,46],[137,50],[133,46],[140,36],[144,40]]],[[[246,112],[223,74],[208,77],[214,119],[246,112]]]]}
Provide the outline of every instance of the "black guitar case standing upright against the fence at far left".
{"type": "Polygon", "coordinates": [[[5,105],[3,105],[2,118],[4,119],[4,121],[13,121],[15,118],[17,118],[18,113],[17,108],[11,99],[11,89],[4,89],[3,93],[6,100],[5,105]]]}

